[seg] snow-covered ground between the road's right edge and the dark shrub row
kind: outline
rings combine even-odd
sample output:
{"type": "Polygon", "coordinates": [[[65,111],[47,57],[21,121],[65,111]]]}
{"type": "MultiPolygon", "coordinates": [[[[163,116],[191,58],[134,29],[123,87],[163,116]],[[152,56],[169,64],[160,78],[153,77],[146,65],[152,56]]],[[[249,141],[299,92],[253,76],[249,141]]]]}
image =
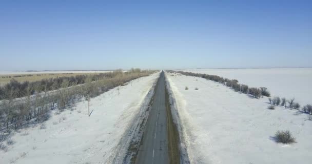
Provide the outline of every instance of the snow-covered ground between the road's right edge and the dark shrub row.
{"type": "Polygon", "coordinates": [[[250,98],[204,78],[171,75],[166,73],[191,163],[311,163],[307,114],[269,110],[267,98],[250,98]],[[290,130],[297,143],[277,144],[278,130],[290,130]]]}

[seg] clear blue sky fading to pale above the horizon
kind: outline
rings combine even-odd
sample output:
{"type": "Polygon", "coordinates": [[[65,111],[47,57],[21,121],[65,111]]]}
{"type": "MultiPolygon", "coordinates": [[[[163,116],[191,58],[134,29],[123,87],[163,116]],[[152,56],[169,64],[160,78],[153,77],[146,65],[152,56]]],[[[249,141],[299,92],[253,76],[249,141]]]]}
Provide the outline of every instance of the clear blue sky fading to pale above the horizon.
{"type": "Polygon", "coordinates": [[[1,1],[0,58],[2,71],[312,67],[312,1],[1,1]]]}

